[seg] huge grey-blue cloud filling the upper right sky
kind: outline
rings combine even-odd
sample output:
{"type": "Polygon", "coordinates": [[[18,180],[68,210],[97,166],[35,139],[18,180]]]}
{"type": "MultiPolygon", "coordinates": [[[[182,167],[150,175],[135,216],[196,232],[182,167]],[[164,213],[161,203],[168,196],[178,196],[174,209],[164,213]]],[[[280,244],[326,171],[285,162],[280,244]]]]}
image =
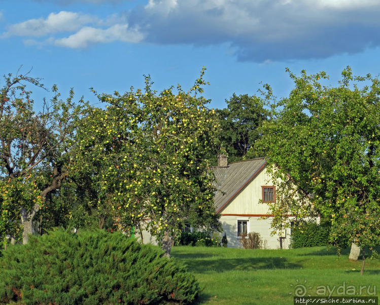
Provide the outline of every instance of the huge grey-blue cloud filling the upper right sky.
{"type": "Polygon", "coordinates": [[[227,43],[239,60],[324,58],[380,45],[377,0],[149,0],[129,12],[156,44],[227,43]]]}

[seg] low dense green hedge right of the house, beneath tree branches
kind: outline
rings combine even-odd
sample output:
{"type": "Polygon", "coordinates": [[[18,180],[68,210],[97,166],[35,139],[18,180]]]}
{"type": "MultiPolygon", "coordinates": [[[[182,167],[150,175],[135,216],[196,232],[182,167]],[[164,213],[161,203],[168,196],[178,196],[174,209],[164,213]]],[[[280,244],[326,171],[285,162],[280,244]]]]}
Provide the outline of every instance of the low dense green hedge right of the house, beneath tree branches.
{"type": "Polygon", "coordinates": [[[330,234],[330,223],[314,221],[300,223],[292,227],[291,248],[327,246],[330,234]]]}

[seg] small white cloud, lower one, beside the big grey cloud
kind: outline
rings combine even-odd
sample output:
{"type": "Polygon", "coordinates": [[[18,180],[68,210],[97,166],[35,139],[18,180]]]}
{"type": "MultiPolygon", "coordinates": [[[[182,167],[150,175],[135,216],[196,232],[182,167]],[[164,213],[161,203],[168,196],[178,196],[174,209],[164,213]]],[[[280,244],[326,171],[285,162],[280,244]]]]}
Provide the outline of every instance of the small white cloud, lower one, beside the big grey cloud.
{"type": "Polygon", "coordinates": [[[73,49],[87,48],[91,44],[122,41],[139,43],[144,38],[137,29],[129,29],[127,24],[115,24],[107,29],[83,27],[77,33],[54,42],[56,46],[73,49]]]}

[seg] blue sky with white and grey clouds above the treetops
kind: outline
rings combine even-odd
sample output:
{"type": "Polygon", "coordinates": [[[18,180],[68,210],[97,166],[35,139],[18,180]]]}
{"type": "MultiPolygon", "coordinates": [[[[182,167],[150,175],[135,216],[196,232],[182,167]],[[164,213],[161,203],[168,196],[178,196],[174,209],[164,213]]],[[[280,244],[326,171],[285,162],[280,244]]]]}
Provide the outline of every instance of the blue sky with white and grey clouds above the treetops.
{"type": "MultiPolygon", "coordinates": [[[[0,73],[57,84],[62,98],[144,87],[189,89],[206,67],[203,96],[226,107],[233,93],[269,84],[279,98],[296,75],[321,70],[336,86],[380,73],[378,0],[0,0],[0,73]]],[[[3,86],[0,80],[0,86],[3,86]]],[[[33,89],[34,101],[52,97],[33,89]]]]}

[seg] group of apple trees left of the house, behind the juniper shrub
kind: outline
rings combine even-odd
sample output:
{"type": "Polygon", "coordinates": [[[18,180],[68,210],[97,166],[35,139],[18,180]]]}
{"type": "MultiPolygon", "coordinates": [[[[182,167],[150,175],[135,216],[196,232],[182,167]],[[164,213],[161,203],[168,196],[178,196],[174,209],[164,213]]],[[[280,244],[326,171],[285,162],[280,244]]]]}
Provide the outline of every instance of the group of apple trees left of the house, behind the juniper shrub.
{"type": "MultiPolygon", "coordinates": [[[[8,75],[0,95],[0,236],[27,243],[33,223],[114,226],[133,235],[146,228],[170,255],[185,225],[219,229],[210,156],[219,121],[197,95],[168,88],[97,94],[101,107],[62,101],[56,93],[33,109],[27,75],[8,75]],[[40,218],[40,219],[39,219],[40,218]],[[111,222],[111,223],[110,223],[111,222]]],[[[40,228],[40,230],[41,230],[40,228]]]]}

